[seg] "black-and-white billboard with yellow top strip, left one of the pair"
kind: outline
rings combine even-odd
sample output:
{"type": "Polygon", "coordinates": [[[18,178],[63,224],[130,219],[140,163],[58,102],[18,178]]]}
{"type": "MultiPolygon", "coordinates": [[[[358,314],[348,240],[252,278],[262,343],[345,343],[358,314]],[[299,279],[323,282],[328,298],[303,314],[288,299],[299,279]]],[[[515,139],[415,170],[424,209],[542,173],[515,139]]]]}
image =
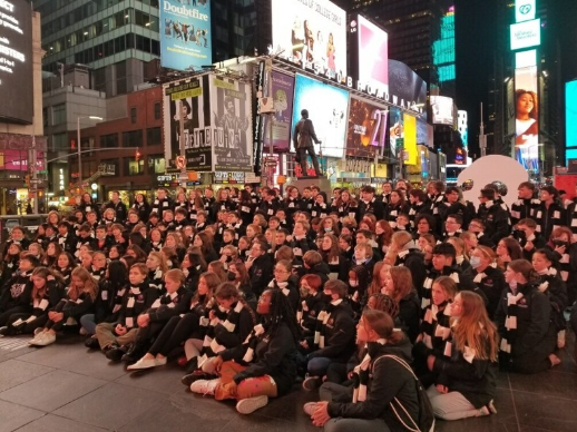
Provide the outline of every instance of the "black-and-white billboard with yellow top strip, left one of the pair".
{"type": "Polygon", "coordinates": [[[166,170],[179,171],[176,157],[180,155],[180,118],[184,119],[186,168],[195,171],[213,170],[213,119],[209,75],[165,86],[164,143],[166,170]]]}

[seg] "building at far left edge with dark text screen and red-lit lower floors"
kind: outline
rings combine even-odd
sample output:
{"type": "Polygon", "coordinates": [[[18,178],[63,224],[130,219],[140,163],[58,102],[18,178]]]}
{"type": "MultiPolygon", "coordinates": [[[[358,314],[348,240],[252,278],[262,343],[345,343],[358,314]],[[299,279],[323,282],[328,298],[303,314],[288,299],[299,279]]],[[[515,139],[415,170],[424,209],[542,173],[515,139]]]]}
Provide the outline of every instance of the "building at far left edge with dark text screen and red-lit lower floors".
{"type": "Polygon", "coordinates": [[[12,52],[22,59],[22,65],[19,61],[14,61],[13,66],[2,63],[0,72],[0,214],[14,215],[33,210],[37,206],[42,209],[43,205],[43,52],[40,16],[30,13],[28,2],[22,1],[13,10],[2,13],[13,13],[22,29],[21,33],[16,35],[10,32],[10,27],[3,26],[0,31],[3,43],[10,43],[12,52]]]}

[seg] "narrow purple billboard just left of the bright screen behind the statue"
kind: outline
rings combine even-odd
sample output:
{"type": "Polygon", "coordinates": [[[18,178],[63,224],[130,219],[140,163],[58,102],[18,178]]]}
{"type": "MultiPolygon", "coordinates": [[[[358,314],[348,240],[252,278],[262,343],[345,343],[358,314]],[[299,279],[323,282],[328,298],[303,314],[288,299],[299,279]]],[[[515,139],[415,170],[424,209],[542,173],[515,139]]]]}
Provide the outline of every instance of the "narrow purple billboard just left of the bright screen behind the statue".
{"type": "MultiPolygon", "coordinates": [[[[273,116],[273,148],[275,153],[286,153],[291,147],[291,125],[293,115],[294,77],[272,71],[274,116],[273,116]]],[[[265,82],[265,88],[268,84],[265,82]]],[[[265,149],[271,145],[270,116],[264,116],[265,149]]]]}

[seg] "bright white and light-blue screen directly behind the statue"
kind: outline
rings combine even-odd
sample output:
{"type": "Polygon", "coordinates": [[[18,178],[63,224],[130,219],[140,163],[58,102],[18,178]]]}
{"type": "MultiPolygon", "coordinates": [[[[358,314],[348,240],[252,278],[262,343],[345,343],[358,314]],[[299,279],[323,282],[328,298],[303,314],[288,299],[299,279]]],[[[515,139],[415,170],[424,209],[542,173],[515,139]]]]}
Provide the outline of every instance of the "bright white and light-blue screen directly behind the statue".
{"type": "Polygon", "coordinates": [[[342,157],[346,136],[346,112],[349,111],[349,92],[315,79],[296,75],[293,125],[301,119],[301,111],[309,110],[316,137],[322,141],[315,145],[316,154],[342,157]]]}

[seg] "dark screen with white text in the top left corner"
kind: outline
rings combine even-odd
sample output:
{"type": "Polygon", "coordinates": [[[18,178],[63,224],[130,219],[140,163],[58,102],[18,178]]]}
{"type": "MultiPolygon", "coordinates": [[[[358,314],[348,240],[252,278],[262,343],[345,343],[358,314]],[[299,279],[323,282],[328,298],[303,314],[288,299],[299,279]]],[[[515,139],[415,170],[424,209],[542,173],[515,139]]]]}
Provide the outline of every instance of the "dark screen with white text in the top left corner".
{"type": "Polygon", "coordinates": [[[31,124],[32,9],[27,0],[0,1],[0,119],[31,124]]]}

